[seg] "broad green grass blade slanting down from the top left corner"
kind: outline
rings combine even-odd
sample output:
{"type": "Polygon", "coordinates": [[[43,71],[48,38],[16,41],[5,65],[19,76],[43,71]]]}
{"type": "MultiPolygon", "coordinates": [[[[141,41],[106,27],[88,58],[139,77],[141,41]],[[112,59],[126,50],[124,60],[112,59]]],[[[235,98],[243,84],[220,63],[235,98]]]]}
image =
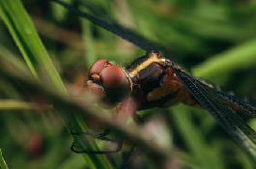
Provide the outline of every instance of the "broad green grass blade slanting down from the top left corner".
{"type": "MultiPolygon", "coordinates": [[[[43,76],[48,78],[52,88],[68,97],[69,94],[21,2],[19,0],[0,0],[0,14],[34,77],[42,81],[43,77],[40,72],[43,70],[43,76]]],[[[56,107],[56,109],[61,110],[61,107],[56,107]]],[[[77,112],[71,111],[67,114],[59,111],[59,113],[69,129],[72,128],[73,131],[86,129],[77,112]]],[[[92,140],[88,140],[88,142],[93,149],[97,150],[97,145],[92,140]]],[[[103,155],[83,156],[90,168],[111,168],[110,163],[103,155]]]]}

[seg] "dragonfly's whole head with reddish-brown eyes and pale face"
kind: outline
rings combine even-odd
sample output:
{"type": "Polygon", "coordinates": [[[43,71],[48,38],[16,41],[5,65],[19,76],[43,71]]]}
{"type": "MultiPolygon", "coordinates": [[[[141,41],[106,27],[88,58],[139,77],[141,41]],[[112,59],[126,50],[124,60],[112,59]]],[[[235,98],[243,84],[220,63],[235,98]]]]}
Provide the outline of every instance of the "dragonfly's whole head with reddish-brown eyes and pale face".
{"type": "Polygon", "coordinates": [[[86,81],[85,86],[107,104],[114,106],[115,103],[128,99],[131,94],[132,85],[127,72],[107,62],[106,59],[95,62],[88,76],[89,80],[86,81]]]}

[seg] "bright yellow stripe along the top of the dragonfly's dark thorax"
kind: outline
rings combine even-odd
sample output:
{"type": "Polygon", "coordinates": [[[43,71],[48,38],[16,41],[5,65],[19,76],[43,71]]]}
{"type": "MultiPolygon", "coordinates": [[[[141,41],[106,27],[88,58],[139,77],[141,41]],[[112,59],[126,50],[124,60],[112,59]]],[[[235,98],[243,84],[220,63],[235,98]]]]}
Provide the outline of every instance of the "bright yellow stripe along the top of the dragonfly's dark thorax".
{"type": "Polygon", "coordinates": [[[134,75],[136,75],[140,70],[144,70],[145,68],[147,68],[149,65],[151,65],[154,62],[159,63],[159,62],[165,61],[165,59],[159,59],[155,53],[151,53],[149,55],[150,55],[150,57],[148,60],[146,60],[145,62],[140,64],[136,69],[132,70],[129,73],[130,77],[134,77],[134,75]]]}

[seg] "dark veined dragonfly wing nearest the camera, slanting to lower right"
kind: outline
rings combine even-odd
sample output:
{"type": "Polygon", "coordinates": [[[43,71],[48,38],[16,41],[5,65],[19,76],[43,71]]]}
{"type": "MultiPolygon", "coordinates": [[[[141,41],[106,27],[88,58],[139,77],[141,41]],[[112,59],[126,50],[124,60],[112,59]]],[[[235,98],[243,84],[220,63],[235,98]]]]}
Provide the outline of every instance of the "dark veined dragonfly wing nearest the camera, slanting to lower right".
{"type": "Polygon", "coordinates": [[[213,118],[242,147],[253,162],[256,162],[256,132],[220,97],[211,87],[186,72],[173,68],[191,95],[207,109],[213,118]]]}

